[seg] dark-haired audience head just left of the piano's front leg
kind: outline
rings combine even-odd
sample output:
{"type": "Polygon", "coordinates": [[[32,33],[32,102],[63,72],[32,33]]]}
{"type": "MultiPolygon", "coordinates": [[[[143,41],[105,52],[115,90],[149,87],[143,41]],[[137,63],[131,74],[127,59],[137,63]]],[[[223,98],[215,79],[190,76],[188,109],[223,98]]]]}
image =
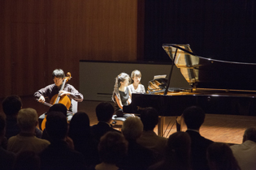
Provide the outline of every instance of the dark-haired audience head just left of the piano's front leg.
{"type": "Polygon", "coordinates": [[[154,108],[145,108],[141,111],[141,121],[143,130],[154,130],[154,127],[158,125],[158,111],[154,108]]]}

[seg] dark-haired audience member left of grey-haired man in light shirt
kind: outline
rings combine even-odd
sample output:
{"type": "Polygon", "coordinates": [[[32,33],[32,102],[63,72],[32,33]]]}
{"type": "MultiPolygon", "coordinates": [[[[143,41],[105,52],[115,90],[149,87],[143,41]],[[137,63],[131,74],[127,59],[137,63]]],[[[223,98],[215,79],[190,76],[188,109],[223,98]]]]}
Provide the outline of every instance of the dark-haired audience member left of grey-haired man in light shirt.
{"type": "MultiPolygon", "coordinates": [[[[6,137],[11,138],[20,133],[20,127],[17,125],[17,115],[22,107],[20,96],[7,96],[2,101],[2,111],[7,116],[6,137]]],[[[41,138],[41,130],[35,129],[37,138],[41,138]]]]}

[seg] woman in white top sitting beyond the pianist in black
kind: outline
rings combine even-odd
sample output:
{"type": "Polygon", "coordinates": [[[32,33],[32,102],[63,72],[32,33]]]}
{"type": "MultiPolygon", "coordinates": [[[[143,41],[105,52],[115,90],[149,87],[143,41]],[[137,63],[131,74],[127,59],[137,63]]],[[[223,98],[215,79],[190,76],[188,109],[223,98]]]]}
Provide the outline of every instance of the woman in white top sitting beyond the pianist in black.
{"type": "Polygon", "coordinates": [[[145,87],[141,84],[141,71],[133,70],[131,74],[132,84],[128,87],[132,93],[145,93],[145,87]]]}

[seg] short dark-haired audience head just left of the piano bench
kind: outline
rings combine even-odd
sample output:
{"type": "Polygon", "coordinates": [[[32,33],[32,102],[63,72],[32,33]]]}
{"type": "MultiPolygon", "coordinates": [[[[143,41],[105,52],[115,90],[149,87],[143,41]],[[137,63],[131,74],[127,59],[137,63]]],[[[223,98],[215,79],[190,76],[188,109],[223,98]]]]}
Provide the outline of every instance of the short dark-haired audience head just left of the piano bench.
{"type": "Polygon", "coordinates": [[[98,121],[109,122],[111,121],[114,113],[115,109],[110,103],[102,102],[96,107],[96,116],[98,118],[98,121]]]}

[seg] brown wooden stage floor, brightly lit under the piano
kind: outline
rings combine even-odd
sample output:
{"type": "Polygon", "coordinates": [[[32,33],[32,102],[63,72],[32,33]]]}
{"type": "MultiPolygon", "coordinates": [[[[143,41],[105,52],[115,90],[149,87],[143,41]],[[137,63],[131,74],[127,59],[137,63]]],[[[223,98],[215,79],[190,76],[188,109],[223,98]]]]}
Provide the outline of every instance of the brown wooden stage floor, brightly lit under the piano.
{"type": "MultiPolygon", "coordinates": [[[[32,96],[22,97],[23,108],[35,108],[38,116],[45,113],[49,107],[38,103],[32,96]]],[[[0,111],[2,113],[2,99],[0,99],[0,111]]],[[[97,117],[95,115],[95,108],[99,104],[99,101],[84,100],[78,104],[79,111],[83,111],[89,115],[90,125],[97,124],[97,117]]],[[[176,125],[174,124],[176,117],[166,117],[163,129],[165,131],[165,137],[170,136],[176,132],[176,125]],[[170,125],[168,125],[170,124],[170,125]],[[174,124],[174,125],[173,125],[174,124]],[[172,129],[171,126],[173,125],[172,129]]],[[[256,126],[256,117],[245,116],[230,116],[230,115],[218,115],[218,114],[206,114],[206,120],[202,125],[200,133],[205,138],[210,138],[215,142],[228,142],[228,143],[241,143],[242,136],[246,128],[250,126],[256,126]]],[[[185,131],[185,125],[182,131],[185,131]]],[[[158,128],[155,128],[157,133],[158,128]]]]}

